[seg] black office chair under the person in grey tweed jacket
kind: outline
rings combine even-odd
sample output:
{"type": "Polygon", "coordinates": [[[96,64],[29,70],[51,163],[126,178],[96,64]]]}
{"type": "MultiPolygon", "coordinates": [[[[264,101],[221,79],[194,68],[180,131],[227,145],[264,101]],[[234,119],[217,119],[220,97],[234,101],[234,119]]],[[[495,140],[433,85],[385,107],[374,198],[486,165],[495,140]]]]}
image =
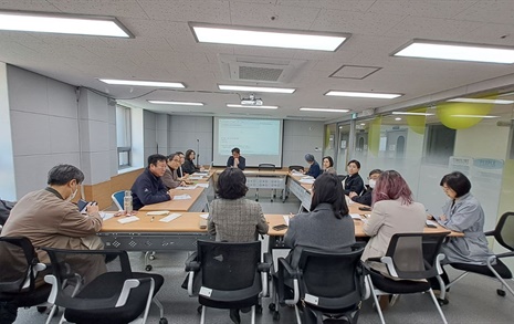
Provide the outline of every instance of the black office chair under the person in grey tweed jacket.
{"type": "Polygon", "coordinates": [[[252,307],[262,312],[260,299],[268,295],[268,274],[271,255],[264,254],[261,262],[261,242],[229,243],[198,241],[198,251],[186,261],[189,272],[188,293],[198,295],[201,320],[206,321],[206,307],[252,307]],[[198,289],[195,289],[198,288],[198,289]]]}

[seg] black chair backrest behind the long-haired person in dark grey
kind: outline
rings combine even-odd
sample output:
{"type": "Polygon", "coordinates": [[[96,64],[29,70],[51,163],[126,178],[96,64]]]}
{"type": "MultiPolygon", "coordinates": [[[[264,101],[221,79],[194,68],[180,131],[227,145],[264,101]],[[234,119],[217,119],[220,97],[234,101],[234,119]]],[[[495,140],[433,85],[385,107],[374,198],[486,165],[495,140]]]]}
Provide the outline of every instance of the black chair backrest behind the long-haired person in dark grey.
{"type": "MultiPolygon", "coordinates": [[[[298,261],[301,297],[311,294],[337,299],[329,304],[339,309],[358,304],[364,296],[363,251],[363,248],[340,253],[304,249],[298,261]]],[[[324,306],[322,301],[318,306],[324,306]]]]}

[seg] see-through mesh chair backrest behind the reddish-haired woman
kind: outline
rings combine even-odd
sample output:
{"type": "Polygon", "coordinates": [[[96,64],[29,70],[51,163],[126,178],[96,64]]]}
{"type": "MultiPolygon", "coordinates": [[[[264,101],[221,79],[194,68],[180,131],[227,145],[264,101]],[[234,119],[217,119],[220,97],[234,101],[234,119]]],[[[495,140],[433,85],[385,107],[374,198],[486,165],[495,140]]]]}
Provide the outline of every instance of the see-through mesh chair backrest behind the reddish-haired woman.
{"type": "Polygon", "coordinates": [[[398,278],[428,279],[437,276],[438,255],[444,238],[440,233],[396,233],[392,236],[386,257],[392,259],[398,278]]]}

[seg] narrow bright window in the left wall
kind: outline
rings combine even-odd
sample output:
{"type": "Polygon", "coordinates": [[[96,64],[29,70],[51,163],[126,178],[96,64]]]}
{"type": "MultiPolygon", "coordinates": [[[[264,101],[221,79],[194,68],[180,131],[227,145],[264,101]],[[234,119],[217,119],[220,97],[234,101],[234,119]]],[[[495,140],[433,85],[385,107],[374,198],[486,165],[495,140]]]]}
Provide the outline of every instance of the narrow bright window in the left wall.
{"type": "Polygon", "coordinates": [[[130,108],[116,105],[116,143],[118,169],[132,166],[130,108]]]}

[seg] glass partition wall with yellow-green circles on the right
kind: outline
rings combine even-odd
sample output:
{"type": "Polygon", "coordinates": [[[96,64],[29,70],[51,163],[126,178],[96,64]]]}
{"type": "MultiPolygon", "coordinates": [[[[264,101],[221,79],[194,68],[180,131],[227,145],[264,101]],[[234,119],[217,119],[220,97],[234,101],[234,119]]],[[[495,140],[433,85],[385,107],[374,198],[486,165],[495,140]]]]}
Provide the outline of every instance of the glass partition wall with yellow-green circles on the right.
{"type": "Polygon", "coordinates": [[[398,170],[416,200],[440,215],[448,198],[439,182],[459,170],[470,178],[471,191],[484,208],[485,230],[494,228],[501,213],[514,210],[514,93],[400,113],[338,124],[338,174],[346,174],[344,166],[353,158],[360,161],[364,179],[375,168],[398,170]]]}

